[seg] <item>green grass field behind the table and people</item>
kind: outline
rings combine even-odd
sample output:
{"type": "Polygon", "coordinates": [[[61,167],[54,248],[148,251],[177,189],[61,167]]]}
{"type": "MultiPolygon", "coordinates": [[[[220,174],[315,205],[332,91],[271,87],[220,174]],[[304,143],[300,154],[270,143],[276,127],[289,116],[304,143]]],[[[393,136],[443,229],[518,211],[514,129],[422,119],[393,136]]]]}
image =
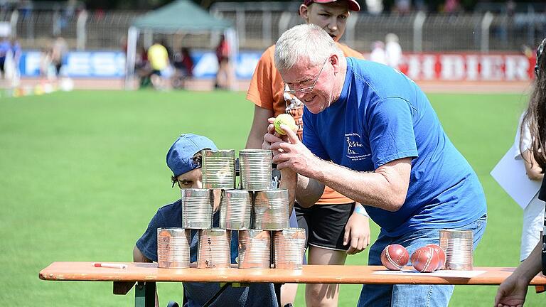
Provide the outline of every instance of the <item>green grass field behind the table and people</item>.
{"type": "MultiPolygon", "coordinates": [[[[524,95],[429,95],[447,134],[478,173],[488,227],[476,266],[517,266],[522,210],[489,172],[513,143],[524,95]]],[[[128,262],[161,206],[176,200],[165,163],[183,132],[242,149],[253,107],[242,92],[76,91],[0,98],[0,306],[132,306],[134,290],[54,282],[38,271],[55,261],[128,262]]],[[[373,227],[373,238],[378,228],[373,227]]],[[[367,253],[348,257],[366,264],[367,253]]],[[[161,306],[181,284],[159,284],[161,306]]],[[[295,306],[304,306],[299,286],[295,306]]],[[[355,306],[358,285],[341,286],[355,306]]],[[[492,306],[496,286],[457,286],[450,306],[492,306]]],[[[526,306],[543,306],[530,288],[526,306]]]]}

